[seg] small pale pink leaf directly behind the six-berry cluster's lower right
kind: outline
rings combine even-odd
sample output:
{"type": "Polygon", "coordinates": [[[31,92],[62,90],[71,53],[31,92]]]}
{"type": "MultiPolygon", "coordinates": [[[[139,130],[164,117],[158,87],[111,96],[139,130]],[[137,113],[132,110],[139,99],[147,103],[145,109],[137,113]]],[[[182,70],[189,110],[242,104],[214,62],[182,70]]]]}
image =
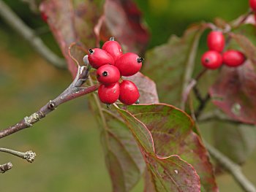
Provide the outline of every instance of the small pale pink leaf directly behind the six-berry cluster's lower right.
{"type": "Polygon", "coordinates": [[[156,83],[138,72],[131,77],[123,77],[124,80],[130,80],[135,83],[140,92],[140,104],[156,104],[159,103],[157,95],[156,83]]]}

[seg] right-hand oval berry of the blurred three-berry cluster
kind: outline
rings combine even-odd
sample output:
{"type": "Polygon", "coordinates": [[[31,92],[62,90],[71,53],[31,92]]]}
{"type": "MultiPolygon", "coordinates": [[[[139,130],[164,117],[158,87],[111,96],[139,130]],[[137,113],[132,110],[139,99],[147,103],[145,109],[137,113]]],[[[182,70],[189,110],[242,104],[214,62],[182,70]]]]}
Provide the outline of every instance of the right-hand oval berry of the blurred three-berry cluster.
{"type": "Polygon", "coordinates": [[[238,50],[227,50],[222,55],[223,63],[227,66],[240,66],[244,64],[245,56],[238,50]]]}

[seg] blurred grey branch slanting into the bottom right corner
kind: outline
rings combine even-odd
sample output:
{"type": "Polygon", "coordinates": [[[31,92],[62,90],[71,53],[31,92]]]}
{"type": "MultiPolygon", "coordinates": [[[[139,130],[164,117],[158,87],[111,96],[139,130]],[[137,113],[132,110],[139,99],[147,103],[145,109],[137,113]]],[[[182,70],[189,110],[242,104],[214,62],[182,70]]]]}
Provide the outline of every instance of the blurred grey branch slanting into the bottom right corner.
{"type": "Polygon", "coordinates": [[[227,156],[220,153],[219,150],[209,145],[207,142],[205,142],[205,145],[208,149],[208,152],[211,154],[211,156],[219,162],[226,170],[229,172],[233,178],[236,180],[236,182],[241,186],[241,188],[244,189],[246,192],[256,192],[256,188],[252,183],[244,176],[244,174],[241,172],[240,166],[235,164],[233,161],[231,161],[227,156]]]}

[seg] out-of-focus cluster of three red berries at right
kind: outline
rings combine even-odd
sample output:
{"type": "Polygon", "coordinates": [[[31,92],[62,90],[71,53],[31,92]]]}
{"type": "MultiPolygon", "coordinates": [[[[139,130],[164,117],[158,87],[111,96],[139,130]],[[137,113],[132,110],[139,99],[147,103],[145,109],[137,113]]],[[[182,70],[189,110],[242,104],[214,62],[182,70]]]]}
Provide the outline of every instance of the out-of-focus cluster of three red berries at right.
{"type": "Polygon", "coordinates": [[[240,51],[227,50],[222,53],[225,37],[221,31],[211,31],[207,37],[207,45],[209,50],[201,58],[203,66],[207,69],[217,69],[222,64],[233,67],[244,64],[245,56],[240,51]]]}

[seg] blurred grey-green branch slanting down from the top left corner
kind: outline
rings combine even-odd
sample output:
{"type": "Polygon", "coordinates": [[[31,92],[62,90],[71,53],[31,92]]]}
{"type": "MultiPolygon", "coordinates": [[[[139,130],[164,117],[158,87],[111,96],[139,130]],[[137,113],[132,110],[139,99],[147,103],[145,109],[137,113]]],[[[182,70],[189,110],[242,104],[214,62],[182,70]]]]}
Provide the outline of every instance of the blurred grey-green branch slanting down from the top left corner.
{"type": "Polygon", "coordinates": [[[26,41],[30,43],[34,50],[37,51],[43,58],[45,58],[50,64],[54,66],[65,69],[67,68],[66,62],[63,58],[59,58],[55,53],[53,53],[42,39],[37,37],[33,29],[26,26],[26,23],[21,20],[15,12],[0,0],[0,16],[6,21],[6,23],[12,27],[18,34],[20,34],[26,41]]]}

